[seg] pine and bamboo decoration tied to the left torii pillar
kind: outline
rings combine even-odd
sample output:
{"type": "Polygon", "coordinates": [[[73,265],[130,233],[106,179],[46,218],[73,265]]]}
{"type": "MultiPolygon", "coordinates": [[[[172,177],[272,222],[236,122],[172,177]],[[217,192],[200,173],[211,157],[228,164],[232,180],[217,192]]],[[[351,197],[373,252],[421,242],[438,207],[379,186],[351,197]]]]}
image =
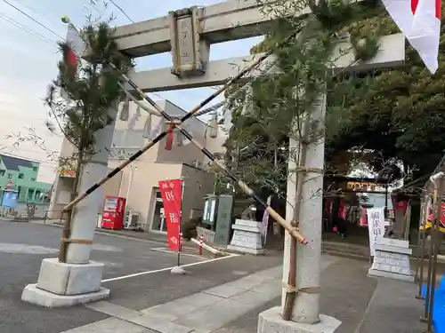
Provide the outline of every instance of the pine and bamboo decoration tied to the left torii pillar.
{"type": "MultiPolygon", "coordinates": [[[[72,200],[77,196],[83,166],[98,153],[94,147],[95,133],[115,120],[110,109],[117,107],[122,92],[120,73],[127,74],[133,67],[132,60],[118,51],[112,33],[113,29],[107,22],[82,28],[79,36],[85,42],[87,55],[86,59],[77,62],[77,67],[69,65],[69,45],[59,43],[62,54],[58,64],[59,74],[50,83],[45,99],[61,131],[75,147],[74,156],[61,161],[69,163],[71,170],[76,170],[72,200]]],[[[72,211],[69,211],[63,238],[69,238],[71,218],[72,211]]],[[[61,245],[59,259],[62,262],[66,261],[65,253],[65,246],[61,245]]]]}

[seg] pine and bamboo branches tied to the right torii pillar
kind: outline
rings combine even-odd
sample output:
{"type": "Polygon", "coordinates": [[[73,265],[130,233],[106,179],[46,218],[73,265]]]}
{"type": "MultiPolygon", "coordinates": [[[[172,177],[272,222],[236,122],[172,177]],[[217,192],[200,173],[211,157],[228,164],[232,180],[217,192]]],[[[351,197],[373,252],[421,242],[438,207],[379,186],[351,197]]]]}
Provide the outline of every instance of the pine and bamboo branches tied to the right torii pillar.
{"type": "MultiPolygon", "coordinates": [[[[292,7],[292,6],[291,6],[292,7]]],[[[373,29],[370,18],[376,15],[380,8],[373,1],[360,4],[350,4],[344,1],[303,2],[292,8],[278,2],[272,8],[264,6],[265,14],[282,17],[276,22],[271,34],[265,37],[261,44],[255,45],[251,53],[272,50],[278,58],[279,72],[259,77],[251,83],[254,91],[250,97],[245,87],[234,86],[227,91],[226,98],[234,91],[241,93],[229,100],[228,109],[232,113],[234,124],[229,139],[228,163],[236,162],[240,177],[258,187],[286,196],[288,179],[287,159],[289,154],[296,159],[295,152],[288,150],[288,138],[297,137],[301,128],[295,129],[294,119],[302,119],[307,115],[314,103],[314,98],[320,92],[320,83],[328,79],[329,88],[339,80],[337,76],[326,77],[333,49],[341,40],[342,32],[349,32],[353,51],[360,60],[372,58],[378,51],[377,37],[387,31],[373,29]],[[314,14],[303,18],[288,15],[309,4],[314,14]],[[365,23],[353,24],[357,19],[365,23]],[[295,40],[287,36],[300,34],[295,40]],[[306,91],[303,98],[295,91],[306,91]],[[246,112],[250,100],[252,107],[246,112]],[[247,149],[246,147],[250,147],[247,149]],[[243,151],[238,158],[233,152],[243,151]]],[[[352,86],[352,83],[349,83],[352,86]]],[[[330,91],[328,91],[330,92],[330,91]]],[[[339,117],[338,108],[332,107],[327,115],[330,135],[335,135],[339,129],[336,120],[339,117]]],[[[300,126],[301,123],[297,122],[300,126]]]]}

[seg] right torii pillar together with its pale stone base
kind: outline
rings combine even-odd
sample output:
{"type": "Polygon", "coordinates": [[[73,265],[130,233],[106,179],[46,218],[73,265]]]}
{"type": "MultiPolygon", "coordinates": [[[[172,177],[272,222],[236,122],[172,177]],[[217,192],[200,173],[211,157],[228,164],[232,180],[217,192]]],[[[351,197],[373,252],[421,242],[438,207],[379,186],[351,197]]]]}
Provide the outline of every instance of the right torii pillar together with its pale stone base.
{"type": "MultiPolygon", "coordinates": [[[[283,289],[281,306],[273,307],[259,315],[258,333],[280,332],[333,332],[340,321],[326,315],[320,315],[320,260],[321,260],[321,227],[322,227],[322,200],[323,200],[323,174],[324,167],[324,118],[326,112],[326,94],[320,95],[312,111],[312,121],[319,123],[319,134],[311,140],[307,147],[306,168],[303,182],[302,202],[299,227],[309,241],[307,245],[297,245],[296,251],[296,279],[297,295],[295,299],[292,321],[283,321],[281,313],[287,292],[287,276],[290,260],[290,235],[286,233],[283,262],[283,289]],[[320,135],[321,131],[321,135],[320,135]]],[[[289,142],[290,149],[298,147],[295,139],[289,142]]],[[[289,158],[289,168],[295,169],[295,158],[289,158]],[[291,161],[294,160],[294,161],[291,161]]],[[[294,218],[296,201],[296,175],[292,175],[287,182],[286,218],[294,218]],[[293,178],[293,179],[292,179],[293,178]]]]}

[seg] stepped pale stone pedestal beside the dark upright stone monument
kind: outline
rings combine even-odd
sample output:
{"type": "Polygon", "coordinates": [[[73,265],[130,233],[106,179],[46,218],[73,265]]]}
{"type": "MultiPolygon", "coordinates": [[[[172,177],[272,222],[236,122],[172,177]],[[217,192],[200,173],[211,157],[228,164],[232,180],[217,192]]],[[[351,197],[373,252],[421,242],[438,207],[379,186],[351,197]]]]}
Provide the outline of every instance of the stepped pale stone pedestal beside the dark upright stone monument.
{"type": "Polygon", "coordinates": [[[255,255],[264,253],[260,222],[237,219],[231,227],[233,236],[231,237],[231,244],[227,246],[228,250],[255,255]]]}

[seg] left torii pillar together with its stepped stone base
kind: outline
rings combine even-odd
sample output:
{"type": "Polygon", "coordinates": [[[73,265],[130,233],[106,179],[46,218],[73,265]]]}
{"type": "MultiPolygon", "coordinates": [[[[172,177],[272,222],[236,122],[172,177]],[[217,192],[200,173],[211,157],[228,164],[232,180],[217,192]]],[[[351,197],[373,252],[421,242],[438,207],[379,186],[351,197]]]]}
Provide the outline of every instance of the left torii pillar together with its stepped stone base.
{"type": "MultiPolygon", "coordinates": [[[[110,109],[109,115],[116,119],[117,108],[110,109]]],[[[94,151],[97,153],[89,156],[89,163],[84,165],[79,184],[81,193],[107,175],[114,127],[114,122],[109,123],[95,133],[94,151]]],[[[109,297],[109,289],[101,288],[103,264],[90,261],[97,213],[102,202],[103,191],[99,189],[75,207],[70,239],[76,242],[69,243],[67,263],[59,262],[58,258],[44,259],[37,283],[29,284],[23,290],[23,301],[58,307],[109,297]]]]}

